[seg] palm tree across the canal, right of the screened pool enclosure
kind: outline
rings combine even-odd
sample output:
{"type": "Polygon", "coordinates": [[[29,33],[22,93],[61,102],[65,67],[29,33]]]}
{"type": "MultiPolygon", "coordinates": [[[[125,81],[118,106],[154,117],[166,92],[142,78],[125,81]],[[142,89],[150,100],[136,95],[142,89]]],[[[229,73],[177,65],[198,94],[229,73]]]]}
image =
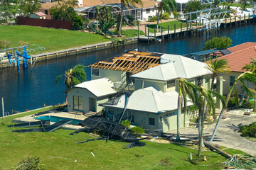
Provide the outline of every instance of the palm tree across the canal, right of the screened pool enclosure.
{"type": "Polygon", "coordinates": [[[171,11],[176,11],[177,4],[175,0],[161,0],[161,2],[158,4],[158,12],[157,12],[157,24],[156,29],[159,28],[159,18],[161,13],[166,11],[167,13],[171,14],[171,11]]]}

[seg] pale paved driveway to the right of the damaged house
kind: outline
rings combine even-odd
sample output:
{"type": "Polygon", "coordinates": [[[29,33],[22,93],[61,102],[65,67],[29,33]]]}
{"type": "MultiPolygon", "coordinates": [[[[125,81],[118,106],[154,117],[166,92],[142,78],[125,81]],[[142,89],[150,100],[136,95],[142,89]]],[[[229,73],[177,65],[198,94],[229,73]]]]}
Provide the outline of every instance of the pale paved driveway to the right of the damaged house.
{"type": "MultiPolygon", "coordinates": [[[[241,137],[241,133],[238,132],[241,125],[249,125],[252,122],[256,122],[256,114],[245,116],[242,115],[242,113],[241,111],[230,111],[225,113],[227,118],[221,120],[213,144],[239,149],[247,154],[256,156],[256,142],[241,137]]],[[[214,128],[215,123],[203,129],[203,136],[205,136],[207,140],[210,139],[214,128]]],[[[174,133],[174,131],[172,131],[172,133],[174,133]]],[[[195,139],[198,137],[198,128],[182,128],[181,137],[195,139]]]]}

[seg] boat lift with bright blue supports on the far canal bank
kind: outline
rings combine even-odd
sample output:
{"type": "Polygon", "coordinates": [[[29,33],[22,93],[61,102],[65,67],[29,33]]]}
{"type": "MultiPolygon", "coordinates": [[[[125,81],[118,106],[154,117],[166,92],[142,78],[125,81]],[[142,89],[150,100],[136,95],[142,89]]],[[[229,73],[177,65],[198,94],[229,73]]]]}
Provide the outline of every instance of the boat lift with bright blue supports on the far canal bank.
{"type": "Polygon", "coordinates": [[[6,62],[6,64],[10,65],[14,64],[18,72],[20,72],[19,63],[22,61],[23,67],[27,68],[28,60],[30,60],[32,68],[33,65],[36,63],[36,60],[38,59],[39,55],[44,49],[44,47],[41,47],[36,44],[2,49],[0,50],[1,65],[3,64],[3,62],[6,62]],[[34,62],[33,59],[35,59],[34,62]]]}

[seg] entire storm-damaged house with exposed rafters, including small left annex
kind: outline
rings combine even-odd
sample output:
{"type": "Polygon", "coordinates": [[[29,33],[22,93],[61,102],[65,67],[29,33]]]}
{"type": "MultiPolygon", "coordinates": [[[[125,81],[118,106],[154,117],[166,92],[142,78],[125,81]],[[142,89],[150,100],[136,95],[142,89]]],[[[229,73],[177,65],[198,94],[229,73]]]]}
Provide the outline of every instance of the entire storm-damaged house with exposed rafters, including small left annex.
{"type": "MultiPolygon", "coordinates": [[[[104,108],[109,117],[126,111],[132,113],[132,125],[159,132],[176,129],[178,79],[208,88],[211,83],[211,73],[203,62],[181,55],[129,51],[88,67],[92,81],[68,91],[68,111],[85,113],[104,108]]],[[[188,106],[192,105],[188,101],[188,106]]],[[[189,113],[182,113],[181,127],[188,124],[189,113]]]]}

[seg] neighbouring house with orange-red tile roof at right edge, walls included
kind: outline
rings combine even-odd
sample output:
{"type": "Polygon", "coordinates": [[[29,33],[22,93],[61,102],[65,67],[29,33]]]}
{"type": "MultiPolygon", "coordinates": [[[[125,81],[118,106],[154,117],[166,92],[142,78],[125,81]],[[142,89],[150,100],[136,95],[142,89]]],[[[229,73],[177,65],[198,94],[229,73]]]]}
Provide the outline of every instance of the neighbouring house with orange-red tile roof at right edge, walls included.
{"type": "MultiPolygon", "coordinates": [[[[235,79],[238,78],[240,74],[245,72],[242,70],[242,67],[245,64],[250,64],[252,61],[251,58],[256,60],[256,42],[245,42],[240,45],[236,45],[234,47],[228,48],[230,52],[229,55],[224,55],[223,57],[219,57],[219,59],[228,60],[228,65],[230,66],[231,72],[229,74],[223,74],[223,94],[227,95],[228,91],[235,79]]],[[[242,86],[238,84],[238,93],[242,93],[242,86]]]]}

